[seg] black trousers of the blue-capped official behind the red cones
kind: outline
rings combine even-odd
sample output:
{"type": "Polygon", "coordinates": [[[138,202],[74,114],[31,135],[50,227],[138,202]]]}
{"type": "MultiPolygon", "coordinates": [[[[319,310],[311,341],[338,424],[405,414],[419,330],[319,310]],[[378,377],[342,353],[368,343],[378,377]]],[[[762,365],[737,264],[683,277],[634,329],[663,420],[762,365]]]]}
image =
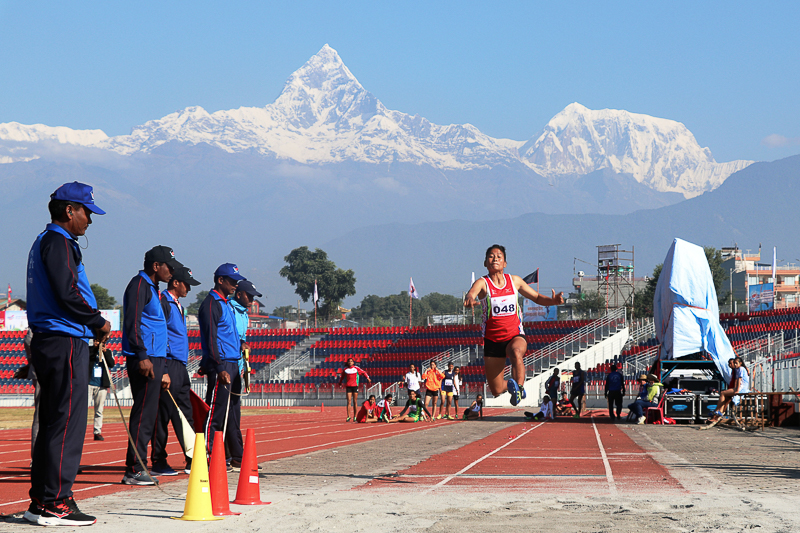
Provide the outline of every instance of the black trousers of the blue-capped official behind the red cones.
{"type": "Polygon", "coordinates": [[[225,406],[228,404],[230,396],[231,403],[228,412],[228,427],[225,430],[225,448],[229,453],[226,454],[231,460],[241,461],[244,455],[244,445],[242,443],[242,376],[239,374],[239,364],[236,361],[225,361],[225,372],[231,376],[231,383],[223,384],[217,379],[216,371],[206,372],[208,387],[206,387],[206,403],[211,408],[206,422],[206,446],[208,454],[214,446],[214,432],[222,431],[225,424],[225,406]],[[234,394],[230,394],[233,392],[234,394]]]}

